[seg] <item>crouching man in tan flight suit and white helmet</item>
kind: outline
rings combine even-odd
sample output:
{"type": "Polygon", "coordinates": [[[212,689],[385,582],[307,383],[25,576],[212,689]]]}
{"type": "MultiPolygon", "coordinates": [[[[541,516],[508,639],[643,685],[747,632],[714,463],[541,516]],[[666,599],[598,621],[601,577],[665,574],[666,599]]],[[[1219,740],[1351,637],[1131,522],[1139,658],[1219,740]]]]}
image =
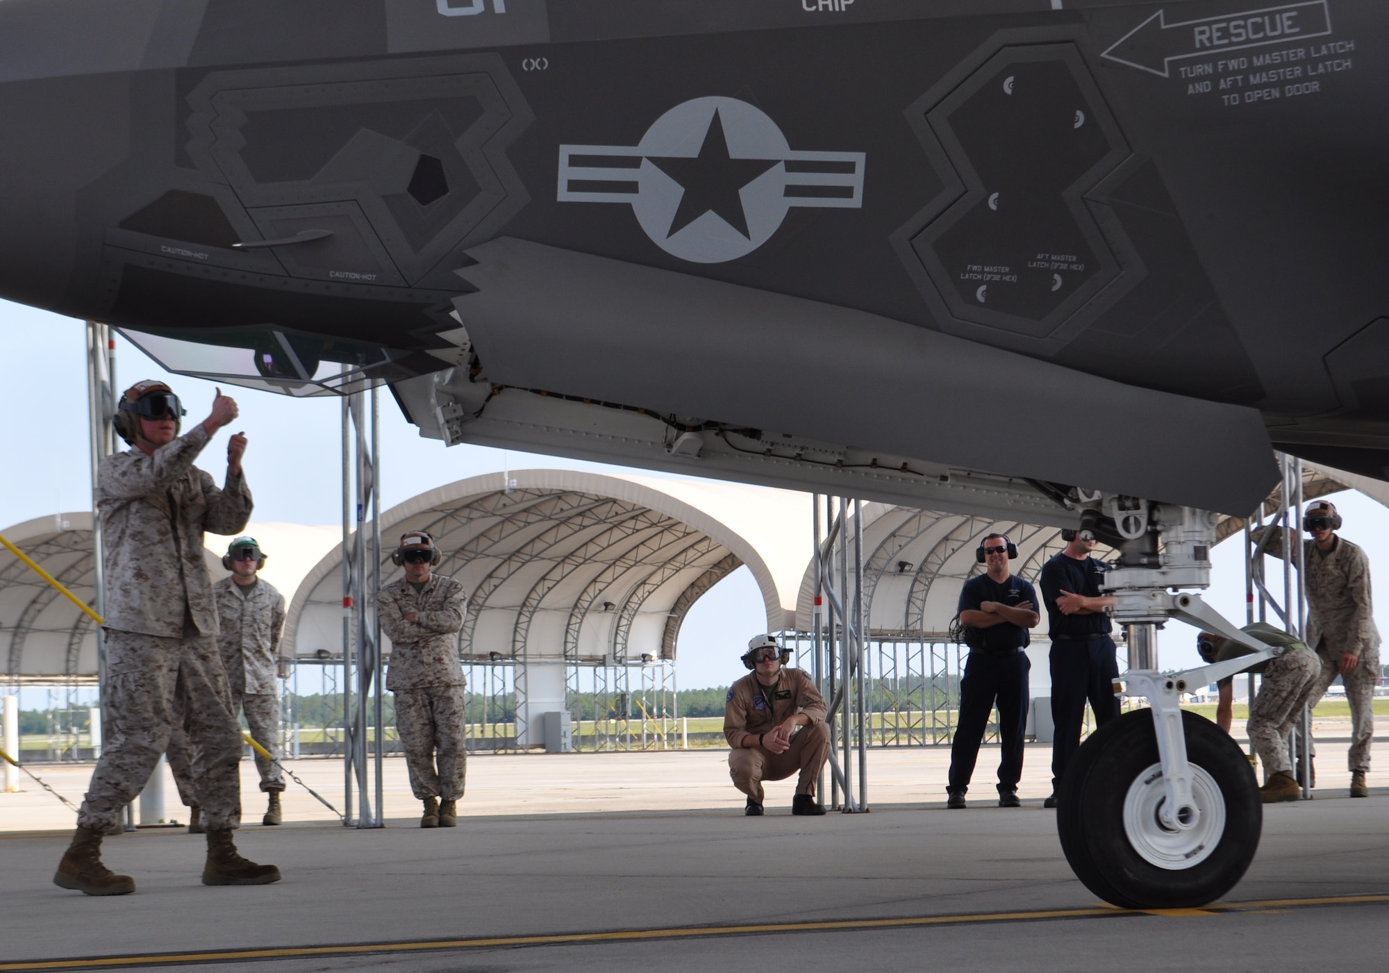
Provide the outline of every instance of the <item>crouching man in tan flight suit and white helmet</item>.
{"type": "Polygon", "coordinates": [[[753,671],[733,682],[724,706],[724,735],[733,751],[728,773],[747,795],[747,816],[763,813],[764,780],[785,780],[797,770],[793,815],[824,815],[815,778],[829,758],[825,698],[799,669],[783,669],[790,652],[771,635],[747,644],[743,664],[753,671]],[[796,727],[801,727],[796,733],[796,727]]]}

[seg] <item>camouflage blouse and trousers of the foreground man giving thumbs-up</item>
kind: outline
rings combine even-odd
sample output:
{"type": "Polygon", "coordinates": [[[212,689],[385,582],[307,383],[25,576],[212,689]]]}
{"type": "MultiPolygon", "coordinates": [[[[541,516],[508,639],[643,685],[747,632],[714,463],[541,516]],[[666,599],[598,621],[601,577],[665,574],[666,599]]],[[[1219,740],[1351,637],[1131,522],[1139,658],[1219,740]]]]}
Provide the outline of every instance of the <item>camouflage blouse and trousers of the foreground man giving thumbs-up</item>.
{"type": "Polygon", "coordinates": [[[190,776],[208,831],[240,823],[242,737],[217,652],[217,605],[203,531],[236,534],[251,513],[242,477],[225,489],[193,460],[201,423],[146,456],[108,456],[96,507],[106,546],[107,737],[78,824],[119,830],[121,812],[168,749],[175,720],[193,742],[190,776]]]}

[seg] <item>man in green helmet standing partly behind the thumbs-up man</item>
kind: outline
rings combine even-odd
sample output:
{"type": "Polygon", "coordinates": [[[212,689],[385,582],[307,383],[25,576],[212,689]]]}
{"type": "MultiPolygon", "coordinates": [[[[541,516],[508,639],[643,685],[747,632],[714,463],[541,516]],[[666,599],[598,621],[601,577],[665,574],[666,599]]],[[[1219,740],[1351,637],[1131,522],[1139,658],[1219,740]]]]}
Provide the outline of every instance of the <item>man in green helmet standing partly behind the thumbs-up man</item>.
{"type": "MultiPolygon", "coordinates": [[[[269,802],[261,824],[279,824],[282,810],[279,795],[285,790],[285,778],[279,771],[279,685],[276,678],[289,677],[289,659],[279,655],[279,639],[285,634],[285,596],[275,587],[257,577],[265,567],[265,552],[253,537],[239,537],[226,546],[222,567],[231,577],[213,585],[217,599],[217,621],[219,634],[217,651],[226,669],[226,682],[232,691],[232,712],[246,713],[246,726],[251,739],[264,746],[272,760],[256,751],[256,769],[260,771],[261,791],[269,794],[269,802]]],[[[182,726],[174,728],[169,741],[169,770],[178,784],[179,796],[189,803],[189,826],[192,833],[201,831],[200,809],[185,796],[192,787],[193,746],[182,726]]]]}

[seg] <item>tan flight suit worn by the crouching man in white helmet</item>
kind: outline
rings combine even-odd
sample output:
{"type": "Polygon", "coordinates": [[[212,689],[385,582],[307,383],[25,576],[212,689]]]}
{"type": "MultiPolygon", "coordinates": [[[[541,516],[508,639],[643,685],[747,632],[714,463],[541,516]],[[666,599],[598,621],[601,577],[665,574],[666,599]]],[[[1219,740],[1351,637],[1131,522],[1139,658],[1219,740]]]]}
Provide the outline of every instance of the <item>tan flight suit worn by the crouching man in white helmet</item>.
{"type": "Polygon", "coordinates": [[[776,685],[763,687],[757,673],[733,682],[724,706],[724,737],[732,752],[728,773],[733,787],[757,803],[765,803],[764,780],[786,780],[797,770],[796,794],[814,794],[815,778],[829,758],[829,728],[825,726],[825,698],[799,669],[781,669],[776,685]],[[782,753],[756,744],[743,745],[747,734],[770,733],[793,713],[810,717],[810,726],[797,730],[790,748],[782,753]]]}

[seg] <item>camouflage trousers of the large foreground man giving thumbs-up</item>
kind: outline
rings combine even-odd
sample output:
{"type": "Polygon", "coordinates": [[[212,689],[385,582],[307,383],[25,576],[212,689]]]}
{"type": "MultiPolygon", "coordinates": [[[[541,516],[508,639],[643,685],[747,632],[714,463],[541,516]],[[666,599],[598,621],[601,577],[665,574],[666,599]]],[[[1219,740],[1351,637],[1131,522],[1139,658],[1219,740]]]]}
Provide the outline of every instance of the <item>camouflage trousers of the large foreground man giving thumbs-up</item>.
{"type": "Polygon", "coordinates": [[[240,824],[242,738],[217,641],[185,620],[182,638],[107,630],[107,738],[78,824],[115,834],[182,719],[193,742],[192,780],[210,831],[240,824]],[[182,713],[182,717],[181,717],[182,713]]]}

